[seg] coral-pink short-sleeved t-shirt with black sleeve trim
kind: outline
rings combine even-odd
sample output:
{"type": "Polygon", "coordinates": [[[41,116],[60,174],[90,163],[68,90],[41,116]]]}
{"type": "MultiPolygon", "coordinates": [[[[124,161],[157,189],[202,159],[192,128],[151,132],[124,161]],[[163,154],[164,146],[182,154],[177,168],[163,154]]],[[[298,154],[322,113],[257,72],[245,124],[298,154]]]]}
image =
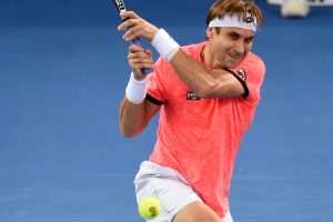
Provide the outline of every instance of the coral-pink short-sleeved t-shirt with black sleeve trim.
{"type": "MultiPolygon", "coordinates": [[[[198,61],[206,42],[182,48],[198,61]]],[[[191,70],[190,70],[191,71],[191,70]]],[[[249,53],[229,70],[246,93],[231,99],[200,99],[160,58],[148,94],[162,102],[158,140],[150,161],[180,172],[221,218],[229,211],[229,190],[241,139],[260,100],[265,65],[249,53]]]]}

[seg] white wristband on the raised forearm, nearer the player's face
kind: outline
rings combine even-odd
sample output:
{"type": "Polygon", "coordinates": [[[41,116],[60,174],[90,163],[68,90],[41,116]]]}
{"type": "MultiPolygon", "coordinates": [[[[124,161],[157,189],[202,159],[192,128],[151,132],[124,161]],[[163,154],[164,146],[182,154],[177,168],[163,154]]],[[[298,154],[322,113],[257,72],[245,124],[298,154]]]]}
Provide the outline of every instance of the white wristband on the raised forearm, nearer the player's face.
{"type": "Polygon", "coordinates": [[[158,50],[158,52],[164,57],[168,61],[172,59],[180,46],[169,36],[164,29],[160,29],[154,36],[151,44],[158,50]]]}

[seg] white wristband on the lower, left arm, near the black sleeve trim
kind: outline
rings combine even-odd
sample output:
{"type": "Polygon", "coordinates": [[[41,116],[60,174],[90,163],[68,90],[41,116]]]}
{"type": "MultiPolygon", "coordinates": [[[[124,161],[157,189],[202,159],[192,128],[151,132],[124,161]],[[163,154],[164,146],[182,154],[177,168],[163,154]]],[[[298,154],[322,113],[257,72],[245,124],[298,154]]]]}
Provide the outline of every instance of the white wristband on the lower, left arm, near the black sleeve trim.
{"type": "Polygon", "coordinates": [[[134,104],[141,103],[147,94],[147,84],[148,78],[144,78],[143,80],[137,80],[134,73],[132,72],[125,89],[125,95],[128,100],[134,104]]]}

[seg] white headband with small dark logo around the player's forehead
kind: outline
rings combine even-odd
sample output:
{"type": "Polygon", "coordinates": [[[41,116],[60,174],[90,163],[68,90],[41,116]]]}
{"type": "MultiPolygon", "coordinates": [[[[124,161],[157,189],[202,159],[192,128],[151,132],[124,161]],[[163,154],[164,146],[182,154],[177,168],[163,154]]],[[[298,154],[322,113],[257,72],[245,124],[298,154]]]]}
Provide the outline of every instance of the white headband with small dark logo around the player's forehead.
{"type": "MultiPolygon", "coordinates": [[[[248,14],[246,14],[248,16],[248,14]]],[[[223,18],[215,18],[210,23],[209,27],[236,27],[242,29],[249,29],[256,31],[256,19],[252,17],[246,17],[245,21],[241,20],[238,16],[224,16],[223,18]]]]}

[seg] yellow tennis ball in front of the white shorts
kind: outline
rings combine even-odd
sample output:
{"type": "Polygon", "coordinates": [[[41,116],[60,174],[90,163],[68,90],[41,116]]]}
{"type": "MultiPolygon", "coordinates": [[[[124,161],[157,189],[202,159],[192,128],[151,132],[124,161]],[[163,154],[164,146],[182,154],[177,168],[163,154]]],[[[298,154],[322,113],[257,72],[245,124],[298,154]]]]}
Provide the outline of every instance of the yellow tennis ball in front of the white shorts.
{"type": "Polygon", "coordinates": [[[161,204],[154,198],[145,198],[139,203],[139,213],[143,219],[153,219],[161,212],[161,204]]]}

